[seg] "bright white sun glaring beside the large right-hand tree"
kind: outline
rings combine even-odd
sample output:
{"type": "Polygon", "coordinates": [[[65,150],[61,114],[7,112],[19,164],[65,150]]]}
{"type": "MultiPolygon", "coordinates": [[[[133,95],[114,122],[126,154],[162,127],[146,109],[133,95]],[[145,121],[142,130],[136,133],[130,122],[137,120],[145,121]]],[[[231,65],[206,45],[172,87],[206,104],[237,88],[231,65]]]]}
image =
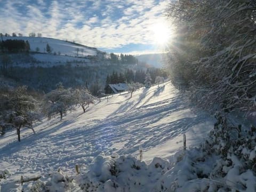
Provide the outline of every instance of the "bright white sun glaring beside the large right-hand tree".
{"type": "Polygon", "coordinates": [[[165,23],[153,25],[154,41],[158,45],[166,45],[171,37],[170,27],[165,23]]]}

